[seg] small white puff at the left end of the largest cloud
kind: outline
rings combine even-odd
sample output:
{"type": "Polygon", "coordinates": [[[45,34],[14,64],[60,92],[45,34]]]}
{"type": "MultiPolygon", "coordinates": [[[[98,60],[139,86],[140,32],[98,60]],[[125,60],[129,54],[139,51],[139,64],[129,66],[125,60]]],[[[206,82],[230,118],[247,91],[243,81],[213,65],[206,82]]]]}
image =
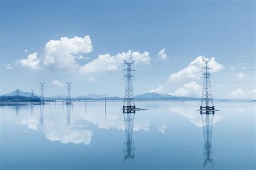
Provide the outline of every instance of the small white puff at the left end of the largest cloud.
{"type": "Polygon", "coordinates": [[[28,56],[26,59],[19,59],[17,60],[17,64],[21,64],[22,66],[29,67],[30,69],[39,69],[41,66],[39,65],[41,62],[40,58],[38,57],[38,53],[34,52],[28,56]]]}

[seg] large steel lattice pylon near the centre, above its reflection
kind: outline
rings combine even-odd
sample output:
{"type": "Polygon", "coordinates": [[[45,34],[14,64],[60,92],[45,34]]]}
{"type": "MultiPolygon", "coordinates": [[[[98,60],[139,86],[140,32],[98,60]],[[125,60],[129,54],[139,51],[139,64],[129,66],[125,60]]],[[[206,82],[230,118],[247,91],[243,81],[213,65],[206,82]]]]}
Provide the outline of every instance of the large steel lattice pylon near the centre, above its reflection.
{"type": "Polygon", "coordinates": [[[127,66],[124,71],[126,71],[126,85],[125,85],[125,93],[124,93],[124,105],[123,105],[123,110],[125,109],[134,109],[134,98],[133,98],[133,87],[132,87],[132,70],[131,66],[133,65],[134,61],[131,63],[126,62],[124,60],[124,64],[127,66]]]}

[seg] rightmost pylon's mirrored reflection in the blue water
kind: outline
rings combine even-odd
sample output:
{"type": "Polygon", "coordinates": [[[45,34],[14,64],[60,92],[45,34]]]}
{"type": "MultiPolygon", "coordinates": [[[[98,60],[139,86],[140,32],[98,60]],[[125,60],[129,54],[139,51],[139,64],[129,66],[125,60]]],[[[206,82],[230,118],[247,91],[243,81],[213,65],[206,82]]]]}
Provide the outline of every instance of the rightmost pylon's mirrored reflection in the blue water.
{"type": "Polygon", "coordinates": [[[201,113],[202,126],[204,132],[204,165],[206,166],[208,163],[213,166],[212,159],[212,128],[213,128],[213,117],[214,113],[205,112],[201,113]]]}

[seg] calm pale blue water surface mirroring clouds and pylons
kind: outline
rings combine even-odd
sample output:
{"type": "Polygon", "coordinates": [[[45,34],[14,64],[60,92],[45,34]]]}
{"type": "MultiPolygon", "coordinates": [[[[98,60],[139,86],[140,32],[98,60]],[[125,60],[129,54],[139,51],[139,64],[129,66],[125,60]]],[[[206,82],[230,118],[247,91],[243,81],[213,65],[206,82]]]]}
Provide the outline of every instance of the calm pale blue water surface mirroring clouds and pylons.
{"type": "Polygon", "coordinates": [[[1,169],[255,169],[255,103],[3,106],[1,169]]]}

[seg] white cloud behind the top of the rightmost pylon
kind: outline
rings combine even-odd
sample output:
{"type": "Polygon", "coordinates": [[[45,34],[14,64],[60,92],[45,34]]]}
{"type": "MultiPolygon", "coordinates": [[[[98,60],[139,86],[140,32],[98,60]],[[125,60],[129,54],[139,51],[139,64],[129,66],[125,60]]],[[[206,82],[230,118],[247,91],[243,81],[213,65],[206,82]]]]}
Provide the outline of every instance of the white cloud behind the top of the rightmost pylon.
{"type": "MultiPolygon", "coordinates": [[[[169,81],[179,81],[183,79],[198,79],[201,76],[201,67],[204,66],[204,62],[201,58],[202,56],[197,57],[193,62],[191,62],[185,69],[180,70],[177,73],[171,73],[169,76],[169,81]]],[[[206,58],[208,59],[208,58],[206,58]]],[[[210,72],[219,72],[224,69],[224,66],[217,63],[215,58],[211,58],[209,62],[209,67],[211,68],[210,72]]]]}

